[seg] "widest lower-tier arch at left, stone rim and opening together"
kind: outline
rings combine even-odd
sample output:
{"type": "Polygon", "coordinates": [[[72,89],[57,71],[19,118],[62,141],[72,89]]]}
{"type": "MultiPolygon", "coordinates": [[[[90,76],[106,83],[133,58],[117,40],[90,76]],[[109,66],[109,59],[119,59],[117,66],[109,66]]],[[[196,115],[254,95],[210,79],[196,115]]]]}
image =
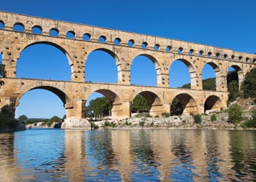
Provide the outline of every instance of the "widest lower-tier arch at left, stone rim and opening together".
{"type": "Polygon", "coordinates": [[[20,115],[24,114],[24,112],[26,113],[26,111],[29,111],[30,114],[39,114],[38,116],[33,115],[32,117],[50,118],[52,116],[49,114],[52,114],[53,116],[59,115],[59,117],[62,118],[62,116],[64,116],[66,113],[65,104],[69,102],[69,97],[56,87],[47,85],[27,87],[20,92],[17,97],[15,103],[15,113],[20,115]],[[62,104],[59,103],[60,100],[62,104]]]}

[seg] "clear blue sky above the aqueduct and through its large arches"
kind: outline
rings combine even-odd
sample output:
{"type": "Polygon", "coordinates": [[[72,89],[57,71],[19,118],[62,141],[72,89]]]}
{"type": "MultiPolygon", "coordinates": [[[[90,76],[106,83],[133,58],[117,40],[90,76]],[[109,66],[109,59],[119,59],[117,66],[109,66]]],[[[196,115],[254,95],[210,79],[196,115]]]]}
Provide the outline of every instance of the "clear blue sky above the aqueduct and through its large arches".
{"type": "MultiPolygon", "coordinates": [[[[256,1],[253,0],[8,0],[0,3],[2,11],[192,41],[249,53],[256,52],[255,9],[256,1]]],[[[17,66],[18,77],[70,80],[67,58],[55,47],[48,45],[28,47],[21,53],[17,66]]],[[[147,58],[135,58],[131,69],[132,84],[156,85],[156,71],[147,58]],[[141,64],[144,65],[143,70],[141,64]],[[139,76],[141,73],[143,76],[139,76]]],[[[214,71],[206,66],[203,79],[214,76],[214,71]]],[[[117,82],[115,61],[110,55],[105,52],[89,55],[86,61],[86,81],[117,82]],[[104,71],[95,73],[94,66],[97,64],[102,65],[104,71]]],[[[170,67],[170,87],[180,87],[189,82],[187,67],[178,61],[174,62],[170,67]]],[[[53,115],[62,117],[65,111],[61,100],[53,93],[33,90],[21,98],[16,117],[21,114],[50,118],[53,115]]]]}

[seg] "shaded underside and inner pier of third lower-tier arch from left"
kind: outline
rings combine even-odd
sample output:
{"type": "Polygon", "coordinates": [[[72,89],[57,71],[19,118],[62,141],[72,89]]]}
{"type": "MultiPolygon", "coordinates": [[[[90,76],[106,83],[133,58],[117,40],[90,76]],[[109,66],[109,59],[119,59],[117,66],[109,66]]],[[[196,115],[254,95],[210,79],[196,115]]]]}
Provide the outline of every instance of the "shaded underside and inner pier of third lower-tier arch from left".
{"type": "MultiPolygon", "coordinates": [[[[158,97],[157,94],[150,91],[143,91],[138,94],[146,98],[150,116],[161,116],[161,114],[163,113],[162,100],[158,97]]],[[[132,100],[134,99],[135,98],[133,98],[132,100]]]]}

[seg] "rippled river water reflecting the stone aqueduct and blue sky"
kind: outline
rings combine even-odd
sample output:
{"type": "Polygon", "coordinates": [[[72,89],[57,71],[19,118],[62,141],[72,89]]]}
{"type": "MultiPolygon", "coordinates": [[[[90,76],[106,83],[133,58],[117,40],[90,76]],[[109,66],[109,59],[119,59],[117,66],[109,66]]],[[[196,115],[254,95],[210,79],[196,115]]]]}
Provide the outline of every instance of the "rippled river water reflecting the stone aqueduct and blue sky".
{"type": "Polygon", "coordinates": [[[256,131],[0,133],[0,181],[256,181],[256,131]]]}

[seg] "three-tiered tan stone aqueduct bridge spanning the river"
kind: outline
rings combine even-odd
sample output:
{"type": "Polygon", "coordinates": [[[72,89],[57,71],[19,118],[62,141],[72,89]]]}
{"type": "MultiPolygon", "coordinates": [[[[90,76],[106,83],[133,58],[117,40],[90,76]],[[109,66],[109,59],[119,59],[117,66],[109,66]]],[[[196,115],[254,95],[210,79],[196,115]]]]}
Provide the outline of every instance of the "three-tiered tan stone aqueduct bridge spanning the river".
{"type": "Polygon", "coordinates": [[[110,100],[114,118],[130,116],[132,100],[138,94],[148,100],[153,116],[170,112],[170,103],[174,98],[181,101],[184,114],[201,114],[207,109],[227,107],[227,69],[230,66],[238,72],[241,84],[245,74],[254,68],[256,60],[256,55],[204,44],[10,12],[0,12],[0,25],[0,52],[7,71],[1,79],[0,107],[9,106],[12,111],[15,111],[26,92],[44,89],[59,96],[66,108],[67,117],[83,118],[86,100],[93,92],[102,93],[110,100]],[[15,30],[15,25],[20,25],[23,30],[15,30]],[[34,28],[41,33],[34,33],[34,28]],[[53,31],[57,35],[53,36],[53,31]],[[67,34],[73,37],[67,37],[67,34]],[[71,82],[16,78],[20,53],[34,44],[50,44],[64,52],[71,67],[71,82]],[[117,84],[85,82],[86,58],[94,50],[108,52],[116,60],[117,84]],[[130,67],[138,55],[144,55],[154,63],[157,87],[130,84],[130,67]],[[169,87],[169,68],[174,60],[180,60],[189,69],[191,89],[169,87]],[[206,64],[215,71],[216,91],[203,90],[202,70],[206,64]]]}

